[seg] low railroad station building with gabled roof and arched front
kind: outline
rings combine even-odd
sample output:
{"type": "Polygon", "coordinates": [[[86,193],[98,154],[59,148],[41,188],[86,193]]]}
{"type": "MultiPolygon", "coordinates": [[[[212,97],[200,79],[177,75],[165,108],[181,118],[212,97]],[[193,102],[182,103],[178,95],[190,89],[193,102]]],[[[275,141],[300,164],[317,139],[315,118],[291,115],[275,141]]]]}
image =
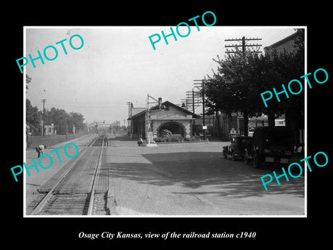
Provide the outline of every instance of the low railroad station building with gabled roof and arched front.
{"type": "MultiPolygon", "coordinates": [[[[137,111],[138,109],[136,109],[137,111]]],[[[130,136],[133,139],[146,139],[147,124],[151,124],[153,138],[160,137],[160,131],[168,129],[172,135],[191,138],[193,135],[193,124],[200,115],[191,113],[189,110],[177,106],[170,101],[161,102],[160,105],[149,108],[149,119],[147,108],[141,108],[138,113],[133,114],[131,110],[130,136]]]]}

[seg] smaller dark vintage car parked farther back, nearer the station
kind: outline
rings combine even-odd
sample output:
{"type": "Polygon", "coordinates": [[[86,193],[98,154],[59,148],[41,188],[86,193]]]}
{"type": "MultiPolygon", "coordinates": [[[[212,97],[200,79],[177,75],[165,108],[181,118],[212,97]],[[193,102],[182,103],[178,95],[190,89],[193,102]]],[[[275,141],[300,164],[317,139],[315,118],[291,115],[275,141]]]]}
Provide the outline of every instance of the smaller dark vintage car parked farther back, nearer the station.
{"type": "Polygon", "coordinates": [[[252,137],[237,135],[231,138],[231,144],[223,147],[222,156],[227,158],[228,155],[232,160],[244,157],[244,150],[250,148],[252,137]]]}

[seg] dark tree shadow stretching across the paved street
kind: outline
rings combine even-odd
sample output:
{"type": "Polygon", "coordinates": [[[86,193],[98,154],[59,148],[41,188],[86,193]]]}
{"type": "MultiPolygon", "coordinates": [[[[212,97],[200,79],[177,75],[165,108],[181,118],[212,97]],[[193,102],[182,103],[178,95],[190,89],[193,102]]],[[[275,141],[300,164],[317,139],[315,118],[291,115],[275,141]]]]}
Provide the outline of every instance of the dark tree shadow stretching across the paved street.
{"type": "MultiPolygon", "coordinates": [[[[215,194],[219,197],[262,197],[266,194],[292,194],[304,197],[304,178],[273,178],[264,190],[261,176],[282,174],[276,169],[254,169],[252,165],[222,158],[219,152],[178,152],[142,154],[150,163],[109,163],[115,178],[127,178],[152,185],[181,185],[187,194],[215,194]]],[[[126,157],[126,156],[125,156],[126,157]]],[[[180,193],[181,193],[180,189],[180,193]]]]}

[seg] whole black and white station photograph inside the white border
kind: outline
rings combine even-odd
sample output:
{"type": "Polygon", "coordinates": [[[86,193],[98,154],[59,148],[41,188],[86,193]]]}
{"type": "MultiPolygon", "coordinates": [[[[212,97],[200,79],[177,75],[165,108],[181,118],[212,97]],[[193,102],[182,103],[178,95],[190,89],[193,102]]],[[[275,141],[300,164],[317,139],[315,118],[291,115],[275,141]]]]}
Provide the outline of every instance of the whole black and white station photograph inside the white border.
{"type": "Polygon", "coordinates": [[[306,27],[25,31],[26,215],[306,215],[306,27]]]}

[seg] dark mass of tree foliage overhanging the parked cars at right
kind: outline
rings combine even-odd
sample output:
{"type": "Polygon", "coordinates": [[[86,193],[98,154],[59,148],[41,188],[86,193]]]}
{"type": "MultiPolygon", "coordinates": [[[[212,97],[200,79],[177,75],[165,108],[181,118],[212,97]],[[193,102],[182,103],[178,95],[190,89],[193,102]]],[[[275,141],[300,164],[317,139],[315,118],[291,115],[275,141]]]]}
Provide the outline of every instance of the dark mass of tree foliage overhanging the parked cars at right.
{"type": "MultiPolygon", "coordinates": [[[[281,101],[271,99],[268,108],[265,108],[260,96],[267,90],[273,92],[273,88],[280,92],[282,84],[287,88],[289,81],[304,74],[304,29],[297,30],[294,47],[296,49],[289,53],[274,50],[262,55],[234,53],[225,59],[219,56],[217,60],[213,59],[219,64],[217,72],[208,76],[203,88],[208,112],[241,112],[245,115],[244,123],[247,116],[262,114],[273,117],[286,114],[286,117],[301,119],[304,115],[304,91],[289,99],[281,94],[281,101]]],[[[246,128],[247,124],[244,124],[246,128]]]]}

